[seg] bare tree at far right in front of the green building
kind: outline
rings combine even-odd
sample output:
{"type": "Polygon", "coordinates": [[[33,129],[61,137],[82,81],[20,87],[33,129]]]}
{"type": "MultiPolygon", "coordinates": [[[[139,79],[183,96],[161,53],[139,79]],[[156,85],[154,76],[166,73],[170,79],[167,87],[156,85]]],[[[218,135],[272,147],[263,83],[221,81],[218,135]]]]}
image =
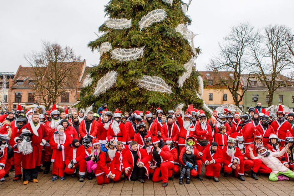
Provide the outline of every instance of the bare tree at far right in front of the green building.
{"type": "Polygon", "coordinates": [[[272,105],[273,95],[278,88],[292,86],[292,78],[282,73],[289,73],[294,67],[291,48],[287,42],[290,29],[286,26],[266,26],[264,34],[251,44],[251,56],[254,60],[251,71],[254,77],[265,84],[268,90],[268,106],[272,105]]]}

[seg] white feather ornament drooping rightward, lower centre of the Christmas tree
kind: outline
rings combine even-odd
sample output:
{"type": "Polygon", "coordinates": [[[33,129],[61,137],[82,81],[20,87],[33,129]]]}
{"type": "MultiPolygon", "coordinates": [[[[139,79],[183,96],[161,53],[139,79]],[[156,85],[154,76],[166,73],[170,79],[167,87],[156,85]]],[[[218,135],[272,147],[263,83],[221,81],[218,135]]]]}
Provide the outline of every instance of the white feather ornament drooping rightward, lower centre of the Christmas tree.
{"type": "Polygon", "coordinates": [[[173,93],[171,86],[168,86],[165,81],[157,76],[144,75],[141,79],[136,80],[136,83],[140,88],[145,88],[149,91],[156,91],[161,93],[173,93]]]}

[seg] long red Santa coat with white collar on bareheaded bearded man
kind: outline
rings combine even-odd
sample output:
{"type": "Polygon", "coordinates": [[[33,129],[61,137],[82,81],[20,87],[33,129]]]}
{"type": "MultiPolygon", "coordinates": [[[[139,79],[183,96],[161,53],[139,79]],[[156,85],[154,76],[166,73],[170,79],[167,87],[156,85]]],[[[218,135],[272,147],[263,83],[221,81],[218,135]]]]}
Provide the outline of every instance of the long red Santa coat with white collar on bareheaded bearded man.
{"type": "MultiPolygon", "coordinates": [[[[40,122],[35,126],[33,121],[31,121],[28,124],[25,124],[22,128],[27,129],[31,133],[33,133],[31,145],[33,147],[33,152],[30,154],[23,155],[22,154],[22,168],[24,169],[33,169],[36,166],[40,166],[41,164],[41,154],[44,144],[46,144],[47,140],[45,138],[48,138],[48,132],[43,124],[40,122]]],[[[18,131],[15,134],[14,141],[16,142],[17,139],[19,139],[19,136],[22,132],[18,131]]]]}

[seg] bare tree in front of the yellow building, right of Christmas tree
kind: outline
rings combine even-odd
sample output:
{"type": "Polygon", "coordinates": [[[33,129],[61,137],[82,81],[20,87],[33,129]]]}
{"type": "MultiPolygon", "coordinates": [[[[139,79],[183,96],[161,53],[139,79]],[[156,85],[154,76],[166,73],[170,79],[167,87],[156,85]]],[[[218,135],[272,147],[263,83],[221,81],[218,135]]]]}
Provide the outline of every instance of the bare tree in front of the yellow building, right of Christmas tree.
{"type": "MultiPolygon", "coordinates": [[[[219,43],[220,52],[210,60],[208,70],[220,70],[232,72],[229,78],[217,78],[214,86],[226,87],[232,94],[235,105],[239,107],[244,94],[248,89],[248,82],[242,90],[241,75],[245,73],[250,65],[249,54],[251,43],[258,38],[259,33],[254,30],[250,23],[240,23],[231,28],[228,36],[224,37],[223,43],[219,43]]],[[[250,73],[246,80],[250,78],[250,73]]]]}

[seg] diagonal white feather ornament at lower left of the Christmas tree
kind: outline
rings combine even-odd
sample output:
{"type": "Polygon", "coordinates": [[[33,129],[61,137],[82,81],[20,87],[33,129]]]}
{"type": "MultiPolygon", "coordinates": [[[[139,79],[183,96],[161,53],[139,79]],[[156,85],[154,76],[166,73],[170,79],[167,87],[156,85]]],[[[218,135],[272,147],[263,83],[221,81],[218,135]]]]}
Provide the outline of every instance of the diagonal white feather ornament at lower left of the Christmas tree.
{"type": "Polygon", "coordinates": [[[116,82],[117,72],[111,71],[106,73],[100,80],[97,82],[95,91],[92,96],[98,97],[100,94],[105,93],[107,89],[111,88],[116,82]]]}

